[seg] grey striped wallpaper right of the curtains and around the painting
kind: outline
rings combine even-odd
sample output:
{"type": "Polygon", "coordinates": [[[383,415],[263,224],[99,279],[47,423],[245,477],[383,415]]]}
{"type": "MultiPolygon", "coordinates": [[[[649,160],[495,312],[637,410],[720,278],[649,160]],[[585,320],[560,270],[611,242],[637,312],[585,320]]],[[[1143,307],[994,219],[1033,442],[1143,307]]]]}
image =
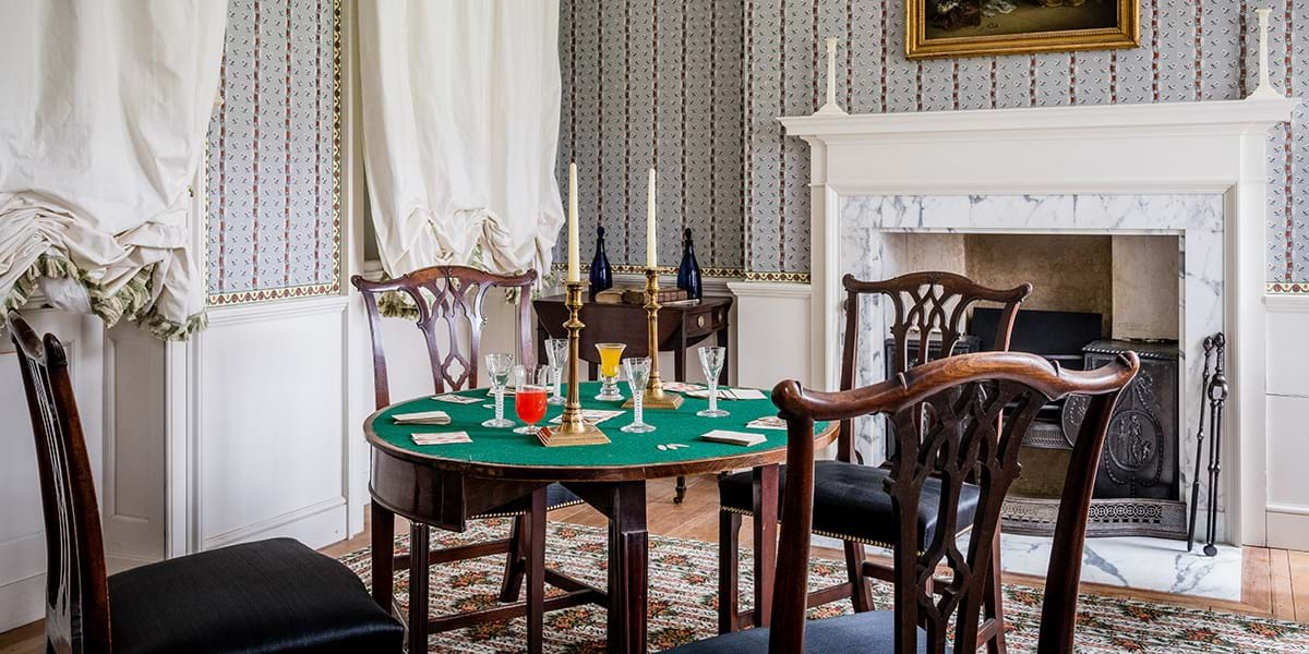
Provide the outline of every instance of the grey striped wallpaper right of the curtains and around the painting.
{"type": "MultiPolygon", "coordinates": [[[[641,260],[640,175],[657,157],[661,264],[686,222],[702,266],[804,273],[808,146],[775,118],[818,106],[822,37],[842,41],[851,112],[1232,99],[1253,88],[1247,21],[1267,5],[1274,80],[1309,95],[1309,0],[1140,3],[1139,48],[910,61],[903,0],[563,0],[560,170],[579,161],[584,220],[610,230],[615,263],[641,260]]],[[[1270,135],[1275,292],[1309,292],[1306,120],[1301,107],[1270,135]]]]}

